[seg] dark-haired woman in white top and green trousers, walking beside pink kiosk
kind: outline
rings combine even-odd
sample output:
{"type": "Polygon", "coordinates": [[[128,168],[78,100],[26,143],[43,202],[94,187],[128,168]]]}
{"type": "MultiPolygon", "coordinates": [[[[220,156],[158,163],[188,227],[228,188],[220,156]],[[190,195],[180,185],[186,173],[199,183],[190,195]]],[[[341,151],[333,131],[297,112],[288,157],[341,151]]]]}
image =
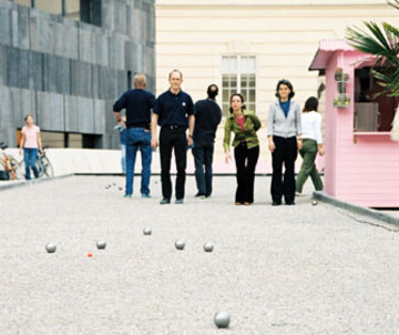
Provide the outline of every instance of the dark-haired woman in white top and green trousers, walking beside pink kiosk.
{"type": "Polygon", "coordinates": [[[323,190],[323,181],[315,164],[317,153],[324,155],[321,115],[317,112],[317,109],[318,100],[315,97],[306,100],[301,114],[303,148],[299,150],[299,154],[303,158],[303,164],[296,180],[297,195],[301,194],[309,175],[316,191],[323,190]]]}

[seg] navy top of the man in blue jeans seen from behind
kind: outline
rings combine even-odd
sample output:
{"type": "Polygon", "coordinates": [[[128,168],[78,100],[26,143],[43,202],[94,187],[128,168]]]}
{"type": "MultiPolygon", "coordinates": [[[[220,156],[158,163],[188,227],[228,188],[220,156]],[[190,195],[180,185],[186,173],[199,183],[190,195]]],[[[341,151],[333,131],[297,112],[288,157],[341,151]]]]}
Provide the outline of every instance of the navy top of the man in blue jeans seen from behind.
{"type": "Polygon", "coordinates": [[[145,90],[130,90],[114,103],[114,112],[126,109],[127,128],[150,129],[151,110],[155,104],[155,95],[145,90]]]}

